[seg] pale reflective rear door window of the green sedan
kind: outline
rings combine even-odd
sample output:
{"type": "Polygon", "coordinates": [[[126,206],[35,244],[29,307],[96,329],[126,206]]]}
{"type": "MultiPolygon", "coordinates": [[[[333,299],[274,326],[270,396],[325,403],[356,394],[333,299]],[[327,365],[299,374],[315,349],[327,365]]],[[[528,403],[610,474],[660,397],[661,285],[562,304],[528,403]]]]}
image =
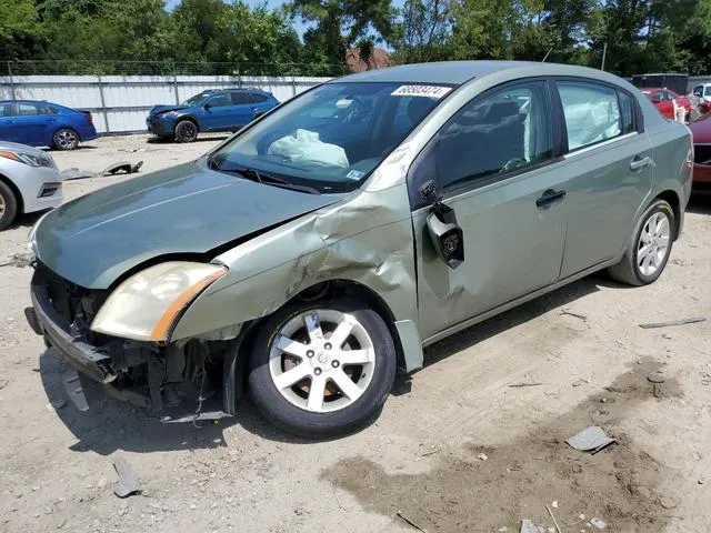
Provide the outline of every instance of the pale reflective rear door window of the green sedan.
{"type": "Polygon", "coordinates": [[[563,104],[568,150],[578,150],[622,133],[617,91],[607,86],[562,81],[558,91],[563,104]]]}

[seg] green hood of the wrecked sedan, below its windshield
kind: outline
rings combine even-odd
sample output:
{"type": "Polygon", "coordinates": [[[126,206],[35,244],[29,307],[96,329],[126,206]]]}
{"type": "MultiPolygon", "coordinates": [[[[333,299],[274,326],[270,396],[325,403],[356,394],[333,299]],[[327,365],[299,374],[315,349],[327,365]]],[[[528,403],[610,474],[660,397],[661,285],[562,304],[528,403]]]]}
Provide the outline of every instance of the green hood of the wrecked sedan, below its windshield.
{"type": "Polygon", "coordinates": [[[191,162],[107,187],[50,212],[36,233],[38,259],[88,289],[168,254],[207,253],[334,203],[223,174],[191,162]]]}

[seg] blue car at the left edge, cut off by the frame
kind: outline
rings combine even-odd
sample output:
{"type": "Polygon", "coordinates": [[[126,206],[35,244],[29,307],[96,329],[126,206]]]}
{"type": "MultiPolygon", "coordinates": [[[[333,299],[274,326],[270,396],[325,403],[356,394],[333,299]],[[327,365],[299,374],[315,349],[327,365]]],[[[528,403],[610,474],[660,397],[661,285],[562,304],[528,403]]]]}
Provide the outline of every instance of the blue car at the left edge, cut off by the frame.
{"type": "Polygon", "coordinates": [[[89,111],[36,100],[0,101],[0,140],[73,150],[99,135],[89,111]]]}

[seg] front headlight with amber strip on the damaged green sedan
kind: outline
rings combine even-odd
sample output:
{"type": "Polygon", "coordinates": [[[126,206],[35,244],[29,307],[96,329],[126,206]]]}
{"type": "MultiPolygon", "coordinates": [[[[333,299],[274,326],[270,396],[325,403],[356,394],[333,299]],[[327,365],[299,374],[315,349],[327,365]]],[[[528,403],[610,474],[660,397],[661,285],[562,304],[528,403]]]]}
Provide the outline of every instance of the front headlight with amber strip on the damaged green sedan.
{"type": "Polygon", "coordinates": [[[109,295],[91,330],[137,341],[168,341],[190,302],[227,272],[224,266],[187,261],[150,266],[109,295]]]}

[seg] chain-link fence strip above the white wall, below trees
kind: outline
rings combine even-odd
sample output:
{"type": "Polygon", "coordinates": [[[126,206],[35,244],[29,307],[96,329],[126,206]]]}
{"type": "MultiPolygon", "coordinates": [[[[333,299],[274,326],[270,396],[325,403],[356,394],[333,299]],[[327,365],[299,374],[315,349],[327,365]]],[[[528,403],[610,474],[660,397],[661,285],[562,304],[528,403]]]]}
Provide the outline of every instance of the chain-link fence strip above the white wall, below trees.
{"type": "Polygon", "coordinates": [[[349,73],[347,64],[174,61],[3,60],[0,76],[319,76],[349,73]]]}

